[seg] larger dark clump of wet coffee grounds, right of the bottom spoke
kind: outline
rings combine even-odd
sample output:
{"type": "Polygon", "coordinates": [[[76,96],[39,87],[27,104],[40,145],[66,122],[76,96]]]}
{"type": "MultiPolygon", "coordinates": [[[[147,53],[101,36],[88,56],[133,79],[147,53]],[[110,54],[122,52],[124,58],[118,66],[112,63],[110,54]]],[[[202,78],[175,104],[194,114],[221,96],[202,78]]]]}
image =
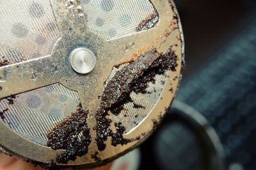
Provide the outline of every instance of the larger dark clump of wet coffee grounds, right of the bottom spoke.
{"type": "Polygon", "coordinates": [[[130,94],[147,93],[148,82],[154,82],[156,74],[163,74],[167,70],[175,71],[177,56],[170,48],[166,53],[159,53],[156,49],[145,52],[129,65],[116,72],[108,82],[101,96],[100,107],[96,112],[97,132],[96,143],[100,151],[106,148],[106,140],[112,137],[112,144],[127,144],[134,139],[124,139],[125,128],[116,124],[116,133],[110,129],[111,120],[108,111],[119,114],[124,109],[124,104],[131,102],[130,94]]]}

